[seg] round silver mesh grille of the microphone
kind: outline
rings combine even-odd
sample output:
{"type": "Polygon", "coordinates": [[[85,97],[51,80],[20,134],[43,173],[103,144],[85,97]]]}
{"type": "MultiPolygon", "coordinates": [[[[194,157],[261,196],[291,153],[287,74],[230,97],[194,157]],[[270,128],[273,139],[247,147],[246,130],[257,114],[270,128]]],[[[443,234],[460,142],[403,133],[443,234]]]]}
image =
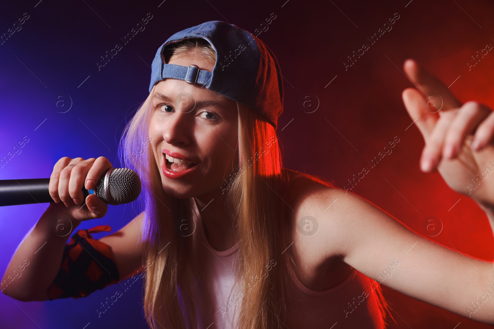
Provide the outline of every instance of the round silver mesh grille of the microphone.
{"type": "Polygon", "coordinates": [[[132,169],[110,168],[101,176],[94,190],[106,204],[120,205],[137,199],[141,188],[141,179],[132,169]]]}

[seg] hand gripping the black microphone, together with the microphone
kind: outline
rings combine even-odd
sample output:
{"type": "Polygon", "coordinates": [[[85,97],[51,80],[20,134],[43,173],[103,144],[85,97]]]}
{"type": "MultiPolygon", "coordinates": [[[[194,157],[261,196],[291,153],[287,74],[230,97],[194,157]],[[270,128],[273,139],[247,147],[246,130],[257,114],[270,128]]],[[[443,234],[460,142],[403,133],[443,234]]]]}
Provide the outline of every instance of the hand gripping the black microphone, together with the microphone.
{"type": "Polygon", "coordinates": [[[0,206],[50,202],[47,211],[77,220],[101,218],[107,204],[134,201],[141,192],[139,176],[110,161],[63,157],[49,179],[0,181],[0,206]]]}

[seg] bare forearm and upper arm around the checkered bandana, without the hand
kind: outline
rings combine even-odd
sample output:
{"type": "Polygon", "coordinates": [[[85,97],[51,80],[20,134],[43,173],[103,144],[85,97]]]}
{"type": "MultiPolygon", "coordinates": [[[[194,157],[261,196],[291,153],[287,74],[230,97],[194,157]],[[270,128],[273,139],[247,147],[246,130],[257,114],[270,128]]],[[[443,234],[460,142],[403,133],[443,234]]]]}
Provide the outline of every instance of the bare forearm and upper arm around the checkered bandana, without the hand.
{"type": "MultiPolygon", "coordinates": [[[[60,216],[53,207],[63,204],[50,203],[47,211],[31,229],[17,248],[3,275],[1,291],[21,301],[47,300],[47,289],[60,269],[62,253],[70,236],[81,221],[72,219],[71,234],[62,233],[60,216]],[[22,270],[21,270],[22,269],[22,270]]],[[[142,240],[140,237],[144,212],[129,221],[119,231],[99,239],[112,248],[120,280],[129,277],[142,264],[142,240]]],[[[64,225],[70,225],[65,219],[64,225]]],[[[70,229],[70,228],[68,228],[70,229]]]]}

